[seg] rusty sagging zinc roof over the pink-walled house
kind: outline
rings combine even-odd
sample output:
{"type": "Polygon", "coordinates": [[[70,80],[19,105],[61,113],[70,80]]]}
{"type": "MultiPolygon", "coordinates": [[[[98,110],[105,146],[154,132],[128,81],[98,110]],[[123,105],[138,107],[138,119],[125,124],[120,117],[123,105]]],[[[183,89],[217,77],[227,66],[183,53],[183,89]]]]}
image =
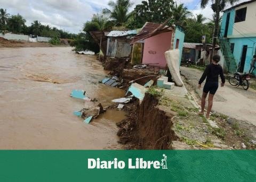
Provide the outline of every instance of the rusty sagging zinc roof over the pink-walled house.
{"type": "Polygon", "coordinates": [[[141,31],[139,32],[139,34],[133,37],[131,44],[137,43],[141,40],[153,37],[158,34],[162,34],[164,32],[173,31],[173,28],[166,26],[166,24],[167,21],[163,24],[146,22],[145,25],[142,27],[141,31]]]}

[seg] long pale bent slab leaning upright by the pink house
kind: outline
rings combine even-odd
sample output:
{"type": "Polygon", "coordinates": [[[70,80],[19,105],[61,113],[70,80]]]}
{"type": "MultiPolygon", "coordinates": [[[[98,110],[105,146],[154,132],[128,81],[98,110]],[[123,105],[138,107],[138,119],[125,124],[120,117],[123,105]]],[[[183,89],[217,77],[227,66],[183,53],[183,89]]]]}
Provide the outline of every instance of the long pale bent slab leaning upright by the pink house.
{"type": "Polygon", "coordinates": [[[184,85],[180,76],[180,50],[174,49],[165,52],[165,58],[167,61],[168,68],[171,72],[172,79],[175,84],[179,87],[184,85]]]}

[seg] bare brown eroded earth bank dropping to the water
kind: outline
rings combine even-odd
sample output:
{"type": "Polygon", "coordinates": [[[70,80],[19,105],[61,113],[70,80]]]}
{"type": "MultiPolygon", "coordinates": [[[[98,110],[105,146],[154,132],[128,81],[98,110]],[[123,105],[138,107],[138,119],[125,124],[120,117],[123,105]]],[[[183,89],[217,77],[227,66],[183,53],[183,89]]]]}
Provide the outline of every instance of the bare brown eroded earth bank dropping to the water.
{"type": "Polygon", "coordinates": [[[167,150],[175,138],[172,114],[158,108],[158,99],[146,94],[143,102],[126,106],[129,118],[118,123],[119,142],[143,150],[167,150]]]}

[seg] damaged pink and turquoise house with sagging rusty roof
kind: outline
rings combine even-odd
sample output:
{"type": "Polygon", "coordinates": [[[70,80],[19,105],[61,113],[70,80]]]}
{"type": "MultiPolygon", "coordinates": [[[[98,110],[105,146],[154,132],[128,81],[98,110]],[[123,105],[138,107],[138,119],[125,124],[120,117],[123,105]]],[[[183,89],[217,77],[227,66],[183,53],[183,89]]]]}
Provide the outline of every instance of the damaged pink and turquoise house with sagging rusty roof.
{"type": "MultiPolygon", "coordinates": [[[[135,64],[152,64],[165,68],[165,52],[170,49],[183,48],[185,34],[178,27],[147,22],[132,39],[132,59],[135,64]]],[[[181,61],[181,59],[180,59],[181,61]]]]}

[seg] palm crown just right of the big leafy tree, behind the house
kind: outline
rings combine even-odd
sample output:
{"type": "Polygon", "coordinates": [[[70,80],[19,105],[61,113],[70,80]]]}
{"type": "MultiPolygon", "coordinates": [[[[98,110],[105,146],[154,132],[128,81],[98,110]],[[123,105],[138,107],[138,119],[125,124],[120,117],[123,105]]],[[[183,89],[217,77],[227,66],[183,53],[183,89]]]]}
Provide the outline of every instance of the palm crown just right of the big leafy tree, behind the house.
{"type": "Polygon", "coordinates": [[[180,4],[179,6],[177,3],[175,3],[173,9],[173,19],[174,19],[174,24],[176,26],[184,27],[187,24],[187,18],[191,16],[191,12],[188,11],[187,7],[184,6],[184,4],[180,4]]]}

